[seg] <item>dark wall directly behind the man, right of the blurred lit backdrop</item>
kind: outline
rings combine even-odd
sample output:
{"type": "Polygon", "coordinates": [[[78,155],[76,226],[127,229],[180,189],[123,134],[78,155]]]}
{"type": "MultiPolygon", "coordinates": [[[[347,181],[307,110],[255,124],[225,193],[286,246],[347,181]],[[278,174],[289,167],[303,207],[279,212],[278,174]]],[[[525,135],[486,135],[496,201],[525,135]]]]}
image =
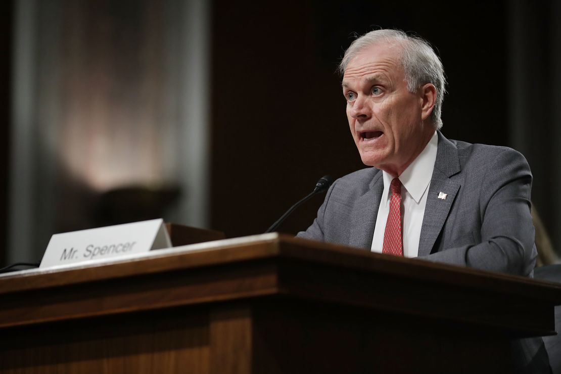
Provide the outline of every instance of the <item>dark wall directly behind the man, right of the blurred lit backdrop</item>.
{"type": "MultiPolygon", "coordinates": [[[[461,16],[448,2],[434,2],[430,17],[413,2],[216,3],[211,219],[228,236],[262,232],[323,174],[365,167],[335,73],[355,32],[398,27],[429,40],[449,82],[444,135],[509,144],[502,2],[463,8],[461,16]]],[[[281,230],[305,229],[322,200],[307,203],[281,230]]]]}

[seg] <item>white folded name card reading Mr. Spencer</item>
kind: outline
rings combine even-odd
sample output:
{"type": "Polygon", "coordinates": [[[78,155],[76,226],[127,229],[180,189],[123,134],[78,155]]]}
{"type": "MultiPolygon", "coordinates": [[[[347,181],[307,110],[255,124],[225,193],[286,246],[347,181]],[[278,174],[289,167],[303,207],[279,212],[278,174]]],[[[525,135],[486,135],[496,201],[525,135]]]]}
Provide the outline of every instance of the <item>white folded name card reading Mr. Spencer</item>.
{"type": "Polygon", "coordinates": [[[171,246],[162,219],[54,234],[39,267],[115,258],[171,246]]]}

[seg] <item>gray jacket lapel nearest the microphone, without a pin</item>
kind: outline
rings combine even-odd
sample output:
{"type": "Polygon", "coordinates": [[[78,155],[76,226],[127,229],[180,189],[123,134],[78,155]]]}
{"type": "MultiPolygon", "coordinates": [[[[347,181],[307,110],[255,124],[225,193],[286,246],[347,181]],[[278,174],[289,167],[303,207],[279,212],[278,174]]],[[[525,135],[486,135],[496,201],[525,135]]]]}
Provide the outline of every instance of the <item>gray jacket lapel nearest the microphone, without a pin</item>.
{"type": "Polygon", "coordinates": [[[383,191],[384,178],[382,178],[382,173],[379,172],[374,177],[370,190],[355,201],[356,211],[353,214],[349,239],[351,247],[370,250],[383,191]]]}

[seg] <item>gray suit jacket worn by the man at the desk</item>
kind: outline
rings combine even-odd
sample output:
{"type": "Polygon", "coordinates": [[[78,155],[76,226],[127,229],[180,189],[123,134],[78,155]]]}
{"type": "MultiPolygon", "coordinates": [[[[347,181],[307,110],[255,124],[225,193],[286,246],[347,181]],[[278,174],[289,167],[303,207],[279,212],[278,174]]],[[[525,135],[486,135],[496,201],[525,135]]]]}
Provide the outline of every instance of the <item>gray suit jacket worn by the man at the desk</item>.
{"type": "MultiPolygon", "coordinates": [[[[448,140],[438,132],[419,257],[531,275],[537,255],[531,184],[530,167],[517,151],[448,140]],[[439,192],[448,195],[445,200],[439,192]]],[[[376,168],[337,179],[314,223],[298,237],[370,250],[383,189],[376,168]]]]}

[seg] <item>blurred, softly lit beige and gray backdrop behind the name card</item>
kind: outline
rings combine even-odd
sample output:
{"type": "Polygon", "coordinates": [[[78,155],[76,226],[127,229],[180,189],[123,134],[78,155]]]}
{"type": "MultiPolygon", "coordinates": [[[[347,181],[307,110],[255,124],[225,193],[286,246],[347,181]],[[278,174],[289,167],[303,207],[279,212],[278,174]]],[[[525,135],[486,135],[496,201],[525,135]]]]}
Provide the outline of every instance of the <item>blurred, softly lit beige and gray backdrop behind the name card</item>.
{"type": "Polygon", "coordinates": [[[16,2],[8,261],[91,227],[95,197],[179,186],[164,218],[205,227],[204,0],[16,2]]]}

